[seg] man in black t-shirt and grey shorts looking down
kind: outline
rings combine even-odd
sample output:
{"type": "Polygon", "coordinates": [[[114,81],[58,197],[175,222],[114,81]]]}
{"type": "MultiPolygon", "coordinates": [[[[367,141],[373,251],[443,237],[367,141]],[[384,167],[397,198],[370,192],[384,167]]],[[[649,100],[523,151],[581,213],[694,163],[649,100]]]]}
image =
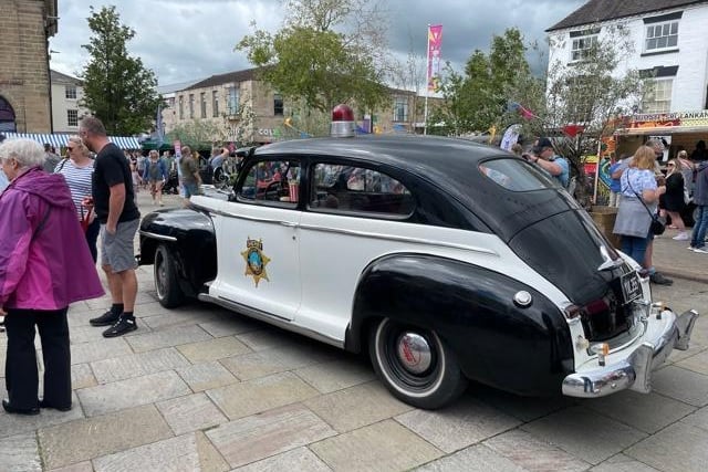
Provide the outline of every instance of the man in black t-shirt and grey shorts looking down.
{"type": "MultiPolygon", "coordinates": [[[[106,136],[98,118],[81,120],[79,135],[88,149],[97,153],[94,164],[93,204],[101,222],[101,266],[108,280],[113,305],[103,315],[90,319],[93,326],[111,326],[104,337],[121,336],[137,329],[133,310],[137,296],[137,262],[133,254],[140,212],[135,206],[133,177],[123,151],[106,136]]],[[[92,200],[92,201],[91,201],[92,200]]]]}

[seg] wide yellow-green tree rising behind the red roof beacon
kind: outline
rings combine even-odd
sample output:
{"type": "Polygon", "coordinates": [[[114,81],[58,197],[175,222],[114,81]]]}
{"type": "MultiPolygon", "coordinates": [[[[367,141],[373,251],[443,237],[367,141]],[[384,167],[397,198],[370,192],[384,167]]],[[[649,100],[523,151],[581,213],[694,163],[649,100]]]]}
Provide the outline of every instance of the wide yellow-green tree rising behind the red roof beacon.
{"type": "Polygon", "coordinates": [[[285,22],[256,30],[237,44],[283,96],[329,112],[339,103],[373,109],[389,99],[382,62],[385,44],[376,8],[354,0],[290,0],[285,22]]]}

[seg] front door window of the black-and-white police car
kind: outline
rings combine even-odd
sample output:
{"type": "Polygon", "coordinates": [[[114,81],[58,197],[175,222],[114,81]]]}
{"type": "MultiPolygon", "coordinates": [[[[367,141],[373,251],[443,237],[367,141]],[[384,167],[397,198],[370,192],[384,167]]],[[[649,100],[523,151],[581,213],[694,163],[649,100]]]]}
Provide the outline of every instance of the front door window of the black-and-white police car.
{"type": "Polygon", "coordinates": [[[243,171],[246,178],[238,193],[239,200],[296,206],[300,195],[299,161],[260,160],[243,171]]]}

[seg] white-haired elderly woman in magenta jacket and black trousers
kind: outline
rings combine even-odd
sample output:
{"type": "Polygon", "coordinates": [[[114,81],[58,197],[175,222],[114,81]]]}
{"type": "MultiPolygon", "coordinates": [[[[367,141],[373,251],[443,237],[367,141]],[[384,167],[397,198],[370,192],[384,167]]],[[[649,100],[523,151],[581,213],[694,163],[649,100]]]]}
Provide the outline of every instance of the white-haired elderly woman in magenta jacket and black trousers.
{"type": "Polygon", "coordinates": [[[0,315],[8,335],[6,386],[9,413],[71,409],[69,304],[104,291],[64,178],[42,170],[44,149],[29,139],[0,145],[10,180],[0,195],[0,315]],[[44,359],[39,400],[34,329],[44,359]]]}

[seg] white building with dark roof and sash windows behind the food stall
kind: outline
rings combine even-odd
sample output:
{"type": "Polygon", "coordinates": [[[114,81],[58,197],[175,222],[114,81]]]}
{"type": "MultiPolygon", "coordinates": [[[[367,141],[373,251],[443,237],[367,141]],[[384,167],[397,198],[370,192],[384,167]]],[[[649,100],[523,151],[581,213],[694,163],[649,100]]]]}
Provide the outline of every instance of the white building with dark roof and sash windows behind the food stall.
{"type": "MultiPolygon", "coordinates": [[[[624,134],[665,136],[677,149],[708,140],[708,1],[590,0],[549,28],[549,69],[572,66],[603,31],[622,25],[635,45],[621,65],[655,82],[624,134]]],[[[622,73],[622,69],[620,69],[622,73]]]]}

